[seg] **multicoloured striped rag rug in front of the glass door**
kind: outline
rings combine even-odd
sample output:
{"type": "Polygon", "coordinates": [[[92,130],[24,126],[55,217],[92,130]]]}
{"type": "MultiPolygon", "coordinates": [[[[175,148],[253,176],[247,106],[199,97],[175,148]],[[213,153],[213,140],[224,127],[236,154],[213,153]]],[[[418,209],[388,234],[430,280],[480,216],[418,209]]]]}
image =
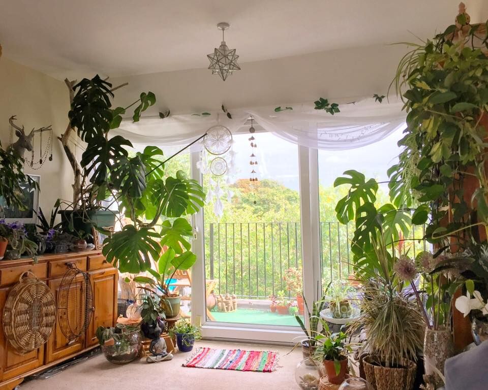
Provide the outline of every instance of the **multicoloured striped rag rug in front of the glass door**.
{"type": "Polygon", "coordinates": [[[276,369],[278,359],[278,353],[271,351],[201,347],[183,364],[183,367],[271,372],[276,369]]]}

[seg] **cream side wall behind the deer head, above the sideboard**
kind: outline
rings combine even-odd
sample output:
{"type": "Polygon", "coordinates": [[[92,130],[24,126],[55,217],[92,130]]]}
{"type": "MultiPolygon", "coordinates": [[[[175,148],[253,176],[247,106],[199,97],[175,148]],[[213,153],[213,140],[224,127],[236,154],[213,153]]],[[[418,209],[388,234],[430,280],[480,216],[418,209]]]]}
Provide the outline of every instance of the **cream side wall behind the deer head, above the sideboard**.
{"type": "MultiPolygon", "coordinates": [[[[17,116],[17,124],[23,124],[26,132],[33,127],[52,124],[53,136],[57,137],[66,128],[68,110],[69,96],[64,82],[26,68],[5,56],[0,58],[0,140],[4,148],[9,145],[11,115],[17,116]]],[[[15,135],[13,139],[17,139],[15,135]]],[[[25,173],[41,177],[40,206],[46,214],[50,214],[57,198],[72,197],[70,169],[57,139],[53,141],[53,161],[46,161],[37,171],[25,167],[25,173]]]]}

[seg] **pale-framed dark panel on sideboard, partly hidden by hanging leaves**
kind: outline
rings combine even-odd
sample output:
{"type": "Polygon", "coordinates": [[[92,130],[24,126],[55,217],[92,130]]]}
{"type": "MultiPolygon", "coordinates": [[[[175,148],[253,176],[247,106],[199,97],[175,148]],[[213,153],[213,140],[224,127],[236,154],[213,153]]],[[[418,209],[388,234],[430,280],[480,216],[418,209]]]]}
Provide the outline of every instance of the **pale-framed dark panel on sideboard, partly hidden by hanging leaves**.
{"type": "Polygon", "coordinates": [[[0,206],[3,207],[5,213],[5,220],[7,222],[19,221],[22,223],[36,223],[37,215],[34,210],[39,211],[39,182],[40,176],[38,175],[28,175],[32,180],[34,180],[38,186],[29,185],[28,183],[21,183],[24,204],[27,206],[25,210],[19,210],[16,207],[7,207],[7,203],[3,197],[0,197],[0,206]]]}

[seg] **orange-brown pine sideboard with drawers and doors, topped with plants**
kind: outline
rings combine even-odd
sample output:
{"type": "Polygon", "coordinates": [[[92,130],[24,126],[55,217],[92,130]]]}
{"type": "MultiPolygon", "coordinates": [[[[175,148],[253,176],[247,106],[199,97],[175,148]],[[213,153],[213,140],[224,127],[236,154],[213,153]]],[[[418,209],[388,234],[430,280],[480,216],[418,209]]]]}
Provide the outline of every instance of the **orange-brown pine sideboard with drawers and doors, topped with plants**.
{"type": "Polygon", "coordinates": [[[26,355],[20,355],[5,338],[3,327],[0,327],[0,390],[10,390],[25,376],[96,347],[97,328],[114,326],[117,319],[118,274],[111,264],[105,262],[101,251],[46,254],[38,256],[37,264],[34,264],[32,258],[0,261],[0,314],[3,315],[10,289],[25,271],[33,272],[46,282],[57,300],[59,285],[70,264],[86,271],[92,283],[95,311],[88,329],[84,335],[69,342],[56,323],[46,344],[26,355]]]}

